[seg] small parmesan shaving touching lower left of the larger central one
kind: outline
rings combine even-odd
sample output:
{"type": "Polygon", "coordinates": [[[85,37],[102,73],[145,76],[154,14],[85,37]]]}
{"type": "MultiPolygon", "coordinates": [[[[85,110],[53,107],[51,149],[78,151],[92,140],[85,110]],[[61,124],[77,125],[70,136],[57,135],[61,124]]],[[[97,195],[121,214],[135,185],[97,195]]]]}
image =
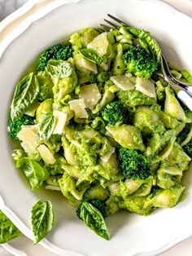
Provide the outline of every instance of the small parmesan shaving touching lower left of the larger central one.
{"type": "Polygon", "coordinates": [[[74,111],[75,116],[78,118],[87,118],[88,114],[85,110],[84,99],[73,99],[68,102],[70,108],[74,111]]]}

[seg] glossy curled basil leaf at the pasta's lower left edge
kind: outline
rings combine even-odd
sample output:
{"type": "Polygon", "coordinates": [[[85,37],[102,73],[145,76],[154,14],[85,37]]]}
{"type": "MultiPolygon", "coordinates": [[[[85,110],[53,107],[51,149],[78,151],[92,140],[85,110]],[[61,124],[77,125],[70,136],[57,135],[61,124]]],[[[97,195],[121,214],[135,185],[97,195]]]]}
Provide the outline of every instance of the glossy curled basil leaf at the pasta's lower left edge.
{"type": "Polygon", "coordinates": [[[22,157],[20,160],[16,161],[16,167],[24,172],[32,190],[40,188],[43,181],[49,177],[49,173],[46,169],[28,157],[22,157]]]}

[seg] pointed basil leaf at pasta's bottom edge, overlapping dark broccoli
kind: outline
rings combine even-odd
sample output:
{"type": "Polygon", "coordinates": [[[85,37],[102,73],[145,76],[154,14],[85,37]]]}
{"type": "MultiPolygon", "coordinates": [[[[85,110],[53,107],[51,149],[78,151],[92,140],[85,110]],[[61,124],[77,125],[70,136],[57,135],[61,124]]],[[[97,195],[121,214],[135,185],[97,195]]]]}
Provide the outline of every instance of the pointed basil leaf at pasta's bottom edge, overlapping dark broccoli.
{"type": "Polygon", "coordinates": [[[110,239],[106,223],[100,211],[88,202],[81,205],[80,218],[90,227],[98,236],[106,240],[110,239]]]}

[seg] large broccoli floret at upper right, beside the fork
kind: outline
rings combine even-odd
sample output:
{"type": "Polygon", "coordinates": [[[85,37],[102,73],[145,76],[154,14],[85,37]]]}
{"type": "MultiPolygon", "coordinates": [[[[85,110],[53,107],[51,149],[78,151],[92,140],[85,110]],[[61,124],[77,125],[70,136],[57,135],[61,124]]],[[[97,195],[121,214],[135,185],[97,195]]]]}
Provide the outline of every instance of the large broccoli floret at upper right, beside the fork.
{"type": "Polygon", "coordinates": [[[137,77],[148,79],[157,68],[155,59],[141,46],[132,46],[122,58],[128,72],[137,77]]]}

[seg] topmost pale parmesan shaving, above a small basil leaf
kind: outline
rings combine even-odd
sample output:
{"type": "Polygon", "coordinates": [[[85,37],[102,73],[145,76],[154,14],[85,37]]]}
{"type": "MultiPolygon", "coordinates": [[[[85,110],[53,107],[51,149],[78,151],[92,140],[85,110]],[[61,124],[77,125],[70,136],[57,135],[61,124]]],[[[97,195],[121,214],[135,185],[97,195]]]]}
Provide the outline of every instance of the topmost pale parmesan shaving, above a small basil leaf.
{"type": "Polygon", "coordinates": [[[109,45],[107,32],[100,33],[93,41],[89,42],[87,48],[98,51],[98,53],[103,56],[107,54],[107,47],[109,45]]]}

